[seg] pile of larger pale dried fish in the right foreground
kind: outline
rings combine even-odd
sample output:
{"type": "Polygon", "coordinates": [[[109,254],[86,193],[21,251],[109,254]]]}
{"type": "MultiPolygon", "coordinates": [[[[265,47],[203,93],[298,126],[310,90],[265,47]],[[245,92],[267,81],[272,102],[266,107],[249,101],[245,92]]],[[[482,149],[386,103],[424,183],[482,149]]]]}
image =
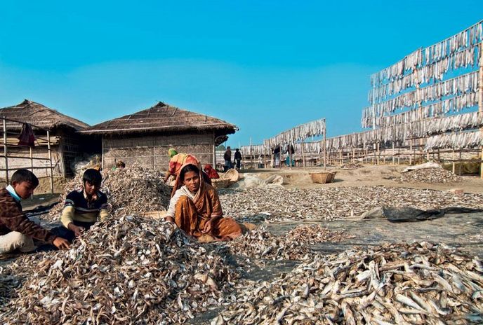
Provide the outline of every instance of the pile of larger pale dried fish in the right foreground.
{"type": "Polygon", "coordinates": [[[212,324],[483,322],[481,261],[428,242],[315,256],[239,290],[212,324]]]}

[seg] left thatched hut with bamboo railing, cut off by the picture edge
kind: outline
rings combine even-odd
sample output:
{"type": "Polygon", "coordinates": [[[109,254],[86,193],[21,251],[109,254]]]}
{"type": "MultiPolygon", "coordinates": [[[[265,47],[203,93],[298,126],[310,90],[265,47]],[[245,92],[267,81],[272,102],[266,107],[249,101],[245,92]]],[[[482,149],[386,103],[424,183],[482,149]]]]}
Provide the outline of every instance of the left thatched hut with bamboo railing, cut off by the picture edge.
{"type": "Polygon", "coordinates": [[[0,159],[1,170],[5,170],[8,165],[8,174],[12,174],[20,168],[31,169],[34,167],[32,170],[38,177],[50,177],[50,160],[46,160],[49,158],[48,132],[53,177],[72,176],[71,163],[82,151],[81,134],[78,134],[77,131],[88,127],[88,124],[28,99],[18,105],[0,109],[0,118],[2,118],[0,123],[4,123],[6,127],[4,144],[5,139],[8,144],[7,164],[5,158],[0,159]],[[18,145],[18,137],[23,123],[32,125],[36,138],[33,147],[18,145]]]}

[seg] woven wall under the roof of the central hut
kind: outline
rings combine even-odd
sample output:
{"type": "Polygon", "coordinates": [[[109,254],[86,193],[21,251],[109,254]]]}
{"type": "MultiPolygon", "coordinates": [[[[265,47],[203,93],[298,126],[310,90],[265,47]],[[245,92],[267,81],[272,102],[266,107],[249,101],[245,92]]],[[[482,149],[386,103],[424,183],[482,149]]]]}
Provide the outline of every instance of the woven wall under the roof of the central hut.
{"type": "Polygon", "coordinates": [[[154,170],[167,170],[168,149],[194,155],[201,165],[213,163],[213,134],[151,135],[144,137],[102,138],[104,168],[116,161],[126,165],[139,164],[154,170]]]}

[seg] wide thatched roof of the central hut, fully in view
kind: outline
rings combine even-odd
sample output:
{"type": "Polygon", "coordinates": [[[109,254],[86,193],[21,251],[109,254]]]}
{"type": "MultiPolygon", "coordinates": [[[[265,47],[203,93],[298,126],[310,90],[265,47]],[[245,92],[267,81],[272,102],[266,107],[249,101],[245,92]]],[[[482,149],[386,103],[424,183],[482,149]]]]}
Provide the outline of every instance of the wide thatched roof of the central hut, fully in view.
{"type": "Polygon", "coordinates": [[[87,134],[214,132],[217,136],[232,134],[236,125],[159,102],[149,109],[107,120],[82,130],[87,134]]]}

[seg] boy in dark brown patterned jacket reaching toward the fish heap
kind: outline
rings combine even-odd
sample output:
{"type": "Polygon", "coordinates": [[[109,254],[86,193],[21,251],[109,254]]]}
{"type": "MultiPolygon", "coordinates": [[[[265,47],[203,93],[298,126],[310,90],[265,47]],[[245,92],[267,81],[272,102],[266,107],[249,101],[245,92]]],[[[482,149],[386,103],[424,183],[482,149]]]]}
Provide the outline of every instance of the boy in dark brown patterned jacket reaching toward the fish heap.
{"type": "Polygon", "coordinates": [[[39,185],[39,179],[29,170],[18,170],[12,175],[11,185],[0,191],[0,254],[15,250],[25,253],[36,247],[34,241],[54,244],[59,249],[69,248],[69,242],[62,237],[30,221],[22,214],[20,200],[29,198],[39,185]]]}

